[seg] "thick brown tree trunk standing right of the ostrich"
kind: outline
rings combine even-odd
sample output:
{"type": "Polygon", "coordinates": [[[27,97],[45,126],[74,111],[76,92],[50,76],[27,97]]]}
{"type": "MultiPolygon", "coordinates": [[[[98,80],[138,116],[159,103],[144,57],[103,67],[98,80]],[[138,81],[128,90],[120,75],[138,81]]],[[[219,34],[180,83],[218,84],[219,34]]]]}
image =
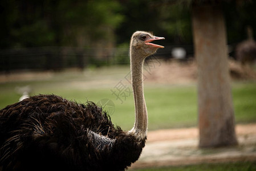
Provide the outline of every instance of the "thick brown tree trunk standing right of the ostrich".
{"type": "Polygon", "coordinates": [[[192,22],[198,64],[199,146],[236,145],[222,9],[207,5],[193,7],[192,22]]]}

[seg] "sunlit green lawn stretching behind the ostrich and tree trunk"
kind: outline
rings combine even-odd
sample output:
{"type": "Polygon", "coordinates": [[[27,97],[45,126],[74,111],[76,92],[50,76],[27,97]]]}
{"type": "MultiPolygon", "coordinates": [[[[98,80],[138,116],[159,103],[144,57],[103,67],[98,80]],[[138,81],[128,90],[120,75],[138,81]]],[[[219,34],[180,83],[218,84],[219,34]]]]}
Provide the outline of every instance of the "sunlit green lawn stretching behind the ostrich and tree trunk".
{"type": "MultiPolygon", "coordinates": [[[[113,123],[121,128],[131,129],[134,122],[134,104],[131,93],[123,103],[112,95],[111,89],[119,81],[125,82],[129,68],[108,68],[81,73],[56,73],[50,79],[0,84],[0,108],[18,101],[20,95],[14,91],[17,86],[30,85],[34,94],[54,93],[69,100],[86,103],[107,98],[115,103],[111,115],[113,123]],[[97,84],[92,84],[99,82],[97,84]],[[102,82],[102,83],[101,83],[102,82]],[[80,85],[80,86],[78,86],[80,85]],[[95,86],[96,85],[96,86],[95,86]]],[[[233,83],[233,102],[237,123],[256,122],[256,83],[233,83]]],[[[170,86],[145,84],[145,99],[149,114],[149,130],[162,128],[192,127],[197,125],[196,85],[170,86]]]]}

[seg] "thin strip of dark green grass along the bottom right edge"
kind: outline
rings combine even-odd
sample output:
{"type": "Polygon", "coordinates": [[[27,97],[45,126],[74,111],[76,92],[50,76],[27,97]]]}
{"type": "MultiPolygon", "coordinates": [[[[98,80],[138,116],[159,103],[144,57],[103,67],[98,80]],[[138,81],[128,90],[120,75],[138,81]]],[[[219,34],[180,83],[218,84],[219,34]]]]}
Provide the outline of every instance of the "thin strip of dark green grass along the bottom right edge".
{"type": "Polygon", "coordinates": [[[136,171],[253,171],[256,162],[232,162],[218,164],[199,164],[189,166],[170,166],[165,168],[136,169],[136,171]]]}

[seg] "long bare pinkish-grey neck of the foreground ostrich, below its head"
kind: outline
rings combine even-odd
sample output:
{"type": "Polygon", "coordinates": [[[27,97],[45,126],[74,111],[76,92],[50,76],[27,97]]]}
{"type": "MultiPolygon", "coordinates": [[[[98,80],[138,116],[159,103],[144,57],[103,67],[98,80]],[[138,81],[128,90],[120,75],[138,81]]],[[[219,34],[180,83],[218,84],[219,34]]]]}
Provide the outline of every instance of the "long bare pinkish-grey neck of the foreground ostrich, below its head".
{"type": "Polygon", "coordinates": [[[139,53],[131,50],[131,78],[135,100],[135,124],[130,132],[135,133],[140,139],[147,136],[148,114],[143,92],[143,63],[144,58],[139,53]]]}

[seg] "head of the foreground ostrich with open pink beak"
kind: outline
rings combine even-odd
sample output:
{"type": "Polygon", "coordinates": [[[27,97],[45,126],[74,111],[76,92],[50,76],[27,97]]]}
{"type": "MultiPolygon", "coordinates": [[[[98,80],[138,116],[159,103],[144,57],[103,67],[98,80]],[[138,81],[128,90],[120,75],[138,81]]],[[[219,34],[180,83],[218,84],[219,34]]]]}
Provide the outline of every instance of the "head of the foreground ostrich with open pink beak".
{"type": "Polygon", "coordinates": [[[154,54],[158,48],[164,48],[164,46],[151,43],[153,40],[161,39],[165,38],[154,36],[145,31],[136,31],[131,38],[130,52],[135,52],[138,54],[136,56],[141,56],[144,59],[147,56],[154,54]]]}

